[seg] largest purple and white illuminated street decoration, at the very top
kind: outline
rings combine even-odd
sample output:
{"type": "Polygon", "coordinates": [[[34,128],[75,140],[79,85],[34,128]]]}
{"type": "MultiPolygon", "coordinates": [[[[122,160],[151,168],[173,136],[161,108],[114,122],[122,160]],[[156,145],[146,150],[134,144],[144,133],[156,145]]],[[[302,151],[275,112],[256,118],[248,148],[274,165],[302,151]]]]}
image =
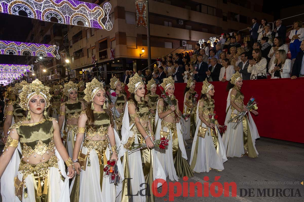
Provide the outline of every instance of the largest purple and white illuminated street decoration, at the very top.
{"type": "Polygon", "coordinates": [[[0,0],[0,12],[11,15],[22,15],[48,22],[58,21],[61,24],[85,27],[112,29],[108,18],[111,5],[105,3],[103,10],[99,5],[75,0],[0,0]],[[102,18],[107,14],[106,27],[102,18]],[[54,20],[53,20],[54,19],[54,20]]]}

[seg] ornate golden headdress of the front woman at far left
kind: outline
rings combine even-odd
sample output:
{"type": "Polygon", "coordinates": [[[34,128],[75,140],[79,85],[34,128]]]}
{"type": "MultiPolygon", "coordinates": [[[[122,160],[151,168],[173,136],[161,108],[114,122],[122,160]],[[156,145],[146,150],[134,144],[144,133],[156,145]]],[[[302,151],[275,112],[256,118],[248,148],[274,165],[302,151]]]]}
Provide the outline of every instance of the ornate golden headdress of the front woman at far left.
{"type": "Polygon", "coordinates": [[[38,79],[33,81],[31,84],[24,85],[21,93],[19,94],[20,107],[22,107],[23,110],[28,110],[29,100],[35,95],[40,95],[45,100],[45,109],[48,108],[50,106],[51,98],[49,91],[50,88],[43,85],[38,79]]]}

